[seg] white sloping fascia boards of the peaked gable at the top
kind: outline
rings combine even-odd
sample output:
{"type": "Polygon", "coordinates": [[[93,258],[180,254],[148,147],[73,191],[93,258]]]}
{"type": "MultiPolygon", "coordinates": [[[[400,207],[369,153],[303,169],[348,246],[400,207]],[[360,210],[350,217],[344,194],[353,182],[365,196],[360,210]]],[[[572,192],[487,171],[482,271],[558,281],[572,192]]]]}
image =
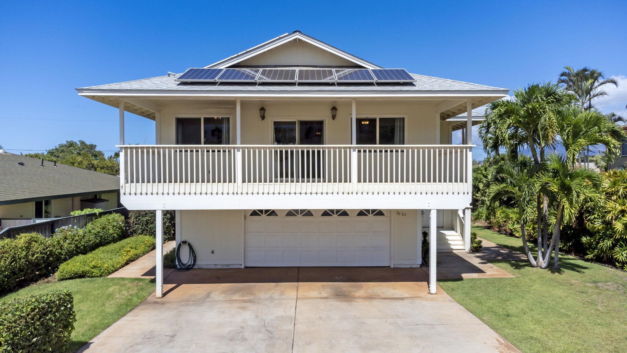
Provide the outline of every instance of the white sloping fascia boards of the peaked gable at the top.
{"type": "Polygon", "coordinates": [[[250,48],[244,52],[241,52],[240,54],[234,55],[233,57],[230,57],[230,58],[226,58],[217,63],[213,63],[204,68],[227,68],[231,65],[234,65],[248,58],[255,57],[255,55],[258,55],[263,52],[267,52],[270,49],[276,48],[277,46],[283,45],[287,43],[288,41],[292,41],[297,38],[299,40],[306,41],[307,43],[311,45],[317,46],[318,48],[322,50],[326,50],[327,52],[337,55],[338,57],[354,62],[357,65],[361,65],[366,68],[382,68],[379,65],[374,65],[373,63],[367,62],[366,60],[358,58],[354,55],[344,52],[343,50],[335,48],[334,46],[330,46],[327,43],[323,43],[322,41],[319,41],[315,38],[304,35],[303,33],[300,33],[300,32],[295,32],[287,36],[280,36],[278,38],[275,38],[275,40],[270,40],[269,42],[250,48]],[[272,43],[273,41],[274,43],[272,43]]]}

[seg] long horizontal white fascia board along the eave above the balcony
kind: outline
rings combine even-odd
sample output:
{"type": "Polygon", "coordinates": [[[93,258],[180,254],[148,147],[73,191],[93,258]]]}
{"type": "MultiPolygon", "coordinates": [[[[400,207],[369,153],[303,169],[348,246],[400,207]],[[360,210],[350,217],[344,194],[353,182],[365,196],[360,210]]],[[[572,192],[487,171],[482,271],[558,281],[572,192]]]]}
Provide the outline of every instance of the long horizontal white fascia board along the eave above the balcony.
{"type": "Polygon", "coordinates": [[[471,90],[471,91],[419,91],[419,92],[233,92],[233,91],[180,91],[180,90],[78,90],[78,95],[119,95],[121,97],[216,97],[241,99],[282,99],[282,98],[413,98],[413,97],[505,97],[507,91],[471,90]]]}

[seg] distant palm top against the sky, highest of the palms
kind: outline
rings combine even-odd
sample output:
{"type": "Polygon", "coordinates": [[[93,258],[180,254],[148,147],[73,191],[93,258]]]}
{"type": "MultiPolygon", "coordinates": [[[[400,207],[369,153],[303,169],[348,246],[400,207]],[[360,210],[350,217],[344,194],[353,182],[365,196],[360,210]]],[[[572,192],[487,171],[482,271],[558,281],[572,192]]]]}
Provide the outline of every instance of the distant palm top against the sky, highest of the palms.
{"type": "Polygon", "coordinates": [[[566,90],[577,96],[577,102],[581,109],[592,109],[592,100],[608,95],[602,89],[603,85],[613,84],[618,87],[618,81],[613,78],[606,79],[603,72],[593,68],[584,67],[574,70],[570,66],[565,66],[566,71],[559,74],[558,84],[564,84],[566,90]],[[587,105],[587,106],[586,106],[587,105]]]}

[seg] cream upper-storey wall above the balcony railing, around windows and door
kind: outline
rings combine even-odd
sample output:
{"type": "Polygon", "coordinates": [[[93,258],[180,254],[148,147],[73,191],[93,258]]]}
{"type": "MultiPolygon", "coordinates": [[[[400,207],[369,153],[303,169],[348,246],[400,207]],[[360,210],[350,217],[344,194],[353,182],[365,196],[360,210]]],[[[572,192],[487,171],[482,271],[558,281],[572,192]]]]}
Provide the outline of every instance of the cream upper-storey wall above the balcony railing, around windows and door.
{"type": "MultiPolygon", "coordinates": [[[[358,100],[357,116],[406,117],[406,144],[436,143],[436,113],[433,101],[408,100],[358,100]],[[431,103],[429,103],[431,102],[431,103]]],[[[350,100],[243,100],[241,103],[241,143],[272,144],[272,121],[275,119],[323,119],[325,121],[325,144],[350,144],[350,100]],[[261,120],[259,108],[266,109],[266,118],[261,120]],[[337,117],[331,119],[331,107],[337,107],[337,117]]],[[[236,143],[235,102],[219,101],[206,104],[188,102],[167,104],[161,107],[159,141],[161,144],[176,144],[176,117],[229,116],[231,117],[231,143],[236,143]]],[[[448,123],[441,123],[440,143],[450,141],[448,123]]]]}

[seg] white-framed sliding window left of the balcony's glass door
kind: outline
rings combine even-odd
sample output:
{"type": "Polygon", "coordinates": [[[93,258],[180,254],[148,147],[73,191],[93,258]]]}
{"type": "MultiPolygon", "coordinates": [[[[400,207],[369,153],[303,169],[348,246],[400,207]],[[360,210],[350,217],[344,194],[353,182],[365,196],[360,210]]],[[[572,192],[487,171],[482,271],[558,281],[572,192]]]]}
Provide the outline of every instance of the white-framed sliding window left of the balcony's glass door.
{"type": "Polygon", "coordinates": [[[228,116],[177,117],[176,144],[229,144],[228,116]]]}

